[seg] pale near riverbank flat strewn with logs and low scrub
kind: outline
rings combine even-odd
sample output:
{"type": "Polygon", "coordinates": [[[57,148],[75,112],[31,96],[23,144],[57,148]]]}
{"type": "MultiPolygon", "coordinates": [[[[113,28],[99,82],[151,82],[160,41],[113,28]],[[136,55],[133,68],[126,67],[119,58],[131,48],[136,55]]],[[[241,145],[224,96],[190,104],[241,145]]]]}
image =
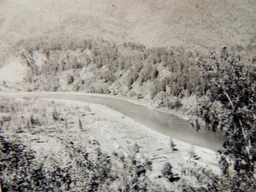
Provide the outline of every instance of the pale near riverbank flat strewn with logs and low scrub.
{"type": "MultiPolygon", "coordinates": [[[[69,144],[86,147],[90,155],[97,156],[98,146],[101,153],[119,167],[117,170],[123,168],[115,160],[115,154],[118,157],[124,155],[125,159],[131,159],[136,154],[138,163],[152,162],[147,178],[167,189],[175,189],[182,182],[194,184],[192,177],[182,174],[184,168],[204,167],[219,174],[214,151],[170,138],[104,105],[70,99],[29,99],[29,94],[22,99],[22,94],[16,94],[8,95],[17,96],[16,100],[1,100],[7,109],[16,107],[12,113],[3,111],[11,115],[11,121],[4,123],[1,134],[7,138],[19,138],[23,144],[31,146],[37,163],[45,162],[49,157],[63,161],[61,166],[65,167],[69,156],[65,154],[68,145],[64,140],[69,140],[69,144]],[[21,116],[24,118],[16,118],[21,116]],[[135,145],[139,153],[135,152],[135,145]],[[180,181],[172,183],[162,177],[161,170],[167,162],[172,165],[172,172],[179,176],[180,181]]],[[[46,164],[44,167],[50,170],[51,165],[46,164]]]]}

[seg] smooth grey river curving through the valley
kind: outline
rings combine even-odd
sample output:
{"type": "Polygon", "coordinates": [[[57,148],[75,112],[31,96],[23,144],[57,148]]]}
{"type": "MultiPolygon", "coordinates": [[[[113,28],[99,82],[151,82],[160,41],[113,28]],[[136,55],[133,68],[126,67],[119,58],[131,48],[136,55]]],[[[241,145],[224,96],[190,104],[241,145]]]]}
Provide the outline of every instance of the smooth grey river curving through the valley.
{"type": "Polygon", "coordinates": [[[149,109],[146,106],[138,105],[123,99],[99,97],[92,95],[70,94],[70,93],[15,93],[4,94],[15,98],[38,97],[51,99],[70,99],[105,105],[125,116],[128,116],[138,123],[146,125],[159,133],[216,151],[221,149],[226,137],[222,132],[212,132],[200,129],[198,132],[192,128],[187,120],[178,116],[149,109]]]}

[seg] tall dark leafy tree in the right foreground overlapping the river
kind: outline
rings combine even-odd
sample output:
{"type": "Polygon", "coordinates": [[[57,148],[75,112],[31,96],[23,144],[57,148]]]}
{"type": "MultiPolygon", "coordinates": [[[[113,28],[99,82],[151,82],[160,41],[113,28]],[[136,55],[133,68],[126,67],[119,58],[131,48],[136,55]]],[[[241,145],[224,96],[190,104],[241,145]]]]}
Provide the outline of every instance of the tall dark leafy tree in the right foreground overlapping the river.
{"type": "Polygon", "coordinates": [[[233,162],[238,176],[246,175],[255,182],[256,63],[242,63],[240,56],[230,54],[226,48],[220,53],[211,48],[210,58],[199,59],[198,66],[206,89],[204,99],[198,101],[197,116],[209,130],[223,130],[228,138],[223,155],[233,162]]]}

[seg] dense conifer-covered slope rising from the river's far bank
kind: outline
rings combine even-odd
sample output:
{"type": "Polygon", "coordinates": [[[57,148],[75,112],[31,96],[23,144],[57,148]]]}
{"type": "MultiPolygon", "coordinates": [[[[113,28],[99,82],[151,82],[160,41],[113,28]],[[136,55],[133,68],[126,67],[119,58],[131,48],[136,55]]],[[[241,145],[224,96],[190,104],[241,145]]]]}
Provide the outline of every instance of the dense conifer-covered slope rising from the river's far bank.
{"type": "Polygon", "coordinates": [[[198,54],[185,52],[182,47],[147,49],[103,40],[70,45],[43,42],[41,39],[41,43],[20,51],[30,67],[25,80],[28,91],[72,90],[157,98],[161,100],[157,105],[170,108],[181,106],[178,99],[204,91],[195,62],[198,54]]]}

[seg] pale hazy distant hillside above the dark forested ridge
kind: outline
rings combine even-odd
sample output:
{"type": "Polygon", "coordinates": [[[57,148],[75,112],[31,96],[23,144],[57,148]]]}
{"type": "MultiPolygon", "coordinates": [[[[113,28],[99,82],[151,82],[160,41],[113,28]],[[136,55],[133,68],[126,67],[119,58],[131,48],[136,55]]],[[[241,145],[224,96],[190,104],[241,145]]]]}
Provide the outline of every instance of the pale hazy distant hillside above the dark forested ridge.
{"type": "Polygon", "coordinates": [[[42,34],[146,46],[255,47],[255,1],[8,0],[0,2],[2,57],[42,34]],[[254,46],[253,46],[254,45],[254,46]]]}

